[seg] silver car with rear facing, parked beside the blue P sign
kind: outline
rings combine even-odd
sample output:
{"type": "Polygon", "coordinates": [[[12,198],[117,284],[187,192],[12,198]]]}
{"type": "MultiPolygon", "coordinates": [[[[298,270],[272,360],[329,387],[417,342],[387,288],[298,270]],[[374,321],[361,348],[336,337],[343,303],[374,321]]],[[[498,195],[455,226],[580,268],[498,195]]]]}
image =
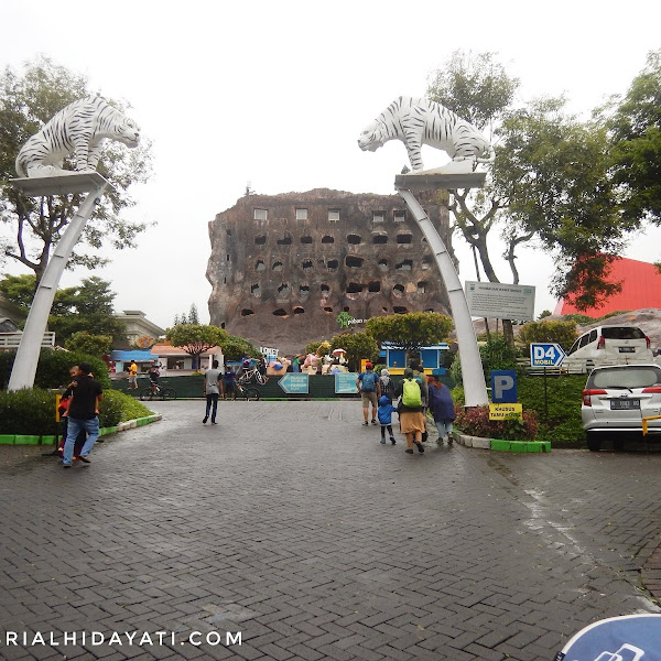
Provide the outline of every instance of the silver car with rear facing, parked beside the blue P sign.
{"type": "MultiPolygon", "coordinates": [[[[596,367],[583,391],[581,416],[587,447],[597,452],[613,438],[616,449],[642,438],[642,419],[661,415],[661,367],[613,365],[596,367]]],[[[661,420],[648,422],[648,434],[661,440],[661,420]]]]}

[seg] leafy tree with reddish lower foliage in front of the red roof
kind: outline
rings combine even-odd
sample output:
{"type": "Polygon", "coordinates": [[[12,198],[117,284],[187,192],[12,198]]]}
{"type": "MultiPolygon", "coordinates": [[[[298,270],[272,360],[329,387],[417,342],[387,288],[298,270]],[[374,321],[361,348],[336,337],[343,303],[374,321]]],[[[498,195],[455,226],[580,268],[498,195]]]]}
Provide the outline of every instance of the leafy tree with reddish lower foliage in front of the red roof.
{"type": "Polygon", "coordinates": [[[499,130],[494,188],[510,231],[552,253],[552,291],[585,310],[619,289],[606,278],[636,223],[622,218],[609,176],[606,128],[546,98],[511,112],[499,130]]]}

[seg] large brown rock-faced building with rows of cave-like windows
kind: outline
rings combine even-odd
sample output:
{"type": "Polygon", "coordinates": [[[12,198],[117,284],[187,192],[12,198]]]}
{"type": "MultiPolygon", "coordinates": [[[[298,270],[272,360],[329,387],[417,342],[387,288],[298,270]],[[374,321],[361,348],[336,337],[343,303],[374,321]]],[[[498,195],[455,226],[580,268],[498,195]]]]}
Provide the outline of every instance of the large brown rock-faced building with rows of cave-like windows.
{"type": "MultiPolygon", "coordinates": [[[[419,199],[449,246],[447,207],[432,195],[419,199]]],[[[246,195],[209,223],[209,238],[210,323],[258,346],[300,353],[342,332],[342,312],[365,321],[449,310],[434,257],[399,195],[246,195]]]]}

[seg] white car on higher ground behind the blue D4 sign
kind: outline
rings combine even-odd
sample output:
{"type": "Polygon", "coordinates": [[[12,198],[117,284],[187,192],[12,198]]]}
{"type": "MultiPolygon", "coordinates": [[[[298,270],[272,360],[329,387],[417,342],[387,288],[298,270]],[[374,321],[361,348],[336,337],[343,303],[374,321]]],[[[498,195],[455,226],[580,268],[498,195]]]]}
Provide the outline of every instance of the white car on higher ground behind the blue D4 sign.
{"type": "Polygon", "coordinates": [[[631,362],[653,362],[650,338],[636,326],[597,326],[572,345],[563,367],[587,373],[600,365],[631,362]]]}

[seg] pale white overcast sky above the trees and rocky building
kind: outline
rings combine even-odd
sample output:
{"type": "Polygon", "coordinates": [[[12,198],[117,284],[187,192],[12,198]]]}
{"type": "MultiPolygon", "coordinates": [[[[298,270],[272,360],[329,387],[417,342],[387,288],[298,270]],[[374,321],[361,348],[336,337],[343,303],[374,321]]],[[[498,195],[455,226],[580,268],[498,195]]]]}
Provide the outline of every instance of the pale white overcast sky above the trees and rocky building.
{"type": "MultiPolygon", "coordinates": [[[[646,54],[661,47],[660,24],[658,0],[32,0],[3,2],[0,64],[19,69],[44,54],[133,107],[153,141],[154,176],[133,189],[131,217],[156,225],[136,249],[109,250],[112,263],[96,274],[112,282],[117,310],[142,310],[166,327],[191,303],[208,322],[208,221],[248,182],[269,195],[393,193],[403,144],[362,152],[358,134],[395,97],[423,96],[456,50],[498,53],[521,79],[521,104],[565,94],[587,116],[626,93],[646,54]]],[[[447,161],[423,155],[425,167],[447,161]]],[[[462,280],[475,280],[469,252],[458,237],[454,243],[462,280]]],[[[651,232],[626,256],[655,261],[660,245],[651,232]]],[[[507,282],[500,252],[492,259],[507,282]]],[[[25,272],[9,261],[1,269],[25,272]]],[[[529,248],[519,269],[521,283],[537,286],[537,314],[553,310],[551,258],[529,248]]],[[[89,274],[67,273],[62,284],[89,274]]]]}

